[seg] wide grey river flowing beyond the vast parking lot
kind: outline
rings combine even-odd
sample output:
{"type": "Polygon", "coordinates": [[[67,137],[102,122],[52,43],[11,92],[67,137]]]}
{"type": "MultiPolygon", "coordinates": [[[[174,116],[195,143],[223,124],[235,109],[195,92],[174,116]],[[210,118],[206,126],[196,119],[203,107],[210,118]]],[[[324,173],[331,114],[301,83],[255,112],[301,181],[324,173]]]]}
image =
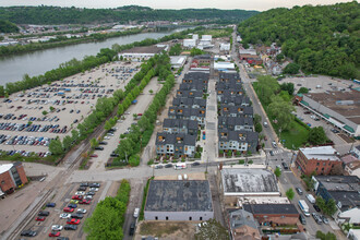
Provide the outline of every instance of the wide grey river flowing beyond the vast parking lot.
{"type": "Polygon", "coordinates": [[[44,74],[46,71],[58,68],[62,62],[73,58],[81,60],[84,56],[96,55],[101,48],[110,48],[113,44],[125,45],[141,41],[145,38],[160,38],[183,29],[187,28],[113,37],[104,41],[69,45],[24,55],[3,57],[0,58],[0,85],[21,81],[26,73],[29,76],[44,74]]]}

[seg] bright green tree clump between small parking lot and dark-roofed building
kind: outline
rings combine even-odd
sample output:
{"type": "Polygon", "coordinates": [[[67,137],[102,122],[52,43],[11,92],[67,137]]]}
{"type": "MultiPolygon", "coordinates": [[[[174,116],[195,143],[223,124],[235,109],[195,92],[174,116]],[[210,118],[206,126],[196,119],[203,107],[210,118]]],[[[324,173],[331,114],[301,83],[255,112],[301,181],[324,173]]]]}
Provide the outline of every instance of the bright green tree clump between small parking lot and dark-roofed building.
{"type": "Polygon", "coordinates": [[[115,197],[107,196],[100,201],[91,217],[86,218],[84,231],[87,239],[122,239],[122,226],[130,199],[131,185],[125,179],[121,181],[115,197]]]}

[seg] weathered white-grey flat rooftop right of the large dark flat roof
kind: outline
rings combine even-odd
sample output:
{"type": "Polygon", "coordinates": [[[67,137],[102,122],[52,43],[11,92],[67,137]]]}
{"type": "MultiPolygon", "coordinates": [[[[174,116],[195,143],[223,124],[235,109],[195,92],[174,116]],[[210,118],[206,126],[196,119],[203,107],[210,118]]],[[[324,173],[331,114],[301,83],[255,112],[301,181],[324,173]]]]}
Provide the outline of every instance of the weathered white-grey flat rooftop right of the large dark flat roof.
{"type": "Polygon", "coordinates": [[[224,193],[278,193],[278,185],[273,172],[253,168],[223,168],[224,193]]]}

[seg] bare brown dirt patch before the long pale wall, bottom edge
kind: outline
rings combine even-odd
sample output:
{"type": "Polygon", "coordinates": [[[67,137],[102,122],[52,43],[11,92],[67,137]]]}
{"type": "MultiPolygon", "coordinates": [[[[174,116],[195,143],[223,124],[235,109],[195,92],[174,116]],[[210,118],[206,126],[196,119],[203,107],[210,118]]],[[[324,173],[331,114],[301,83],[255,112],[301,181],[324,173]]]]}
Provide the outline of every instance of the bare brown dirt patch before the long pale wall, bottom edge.
{"type": "Polygon", "coordinates": [[[189,240],[194,239],[195,228],[195,223],[142,221],[137,227],[135,240],[140,240],[142,236],[153,236],[159,240],[189,240]]]}

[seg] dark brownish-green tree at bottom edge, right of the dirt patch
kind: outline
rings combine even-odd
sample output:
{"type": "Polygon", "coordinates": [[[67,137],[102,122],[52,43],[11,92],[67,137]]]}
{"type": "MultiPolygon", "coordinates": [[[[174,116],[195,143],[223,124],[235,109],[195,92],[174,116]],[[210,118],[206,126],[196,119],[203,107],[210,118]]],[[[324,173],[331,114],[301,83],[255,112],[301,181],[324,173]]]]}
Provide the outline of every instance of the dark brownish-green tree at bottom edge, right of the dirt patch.
{"type": "Polygon", "coordinates": [[[229,239],[229,232],[220,223],[212,218],[201,224],[194,237],[196,240],[229,239]]]}

